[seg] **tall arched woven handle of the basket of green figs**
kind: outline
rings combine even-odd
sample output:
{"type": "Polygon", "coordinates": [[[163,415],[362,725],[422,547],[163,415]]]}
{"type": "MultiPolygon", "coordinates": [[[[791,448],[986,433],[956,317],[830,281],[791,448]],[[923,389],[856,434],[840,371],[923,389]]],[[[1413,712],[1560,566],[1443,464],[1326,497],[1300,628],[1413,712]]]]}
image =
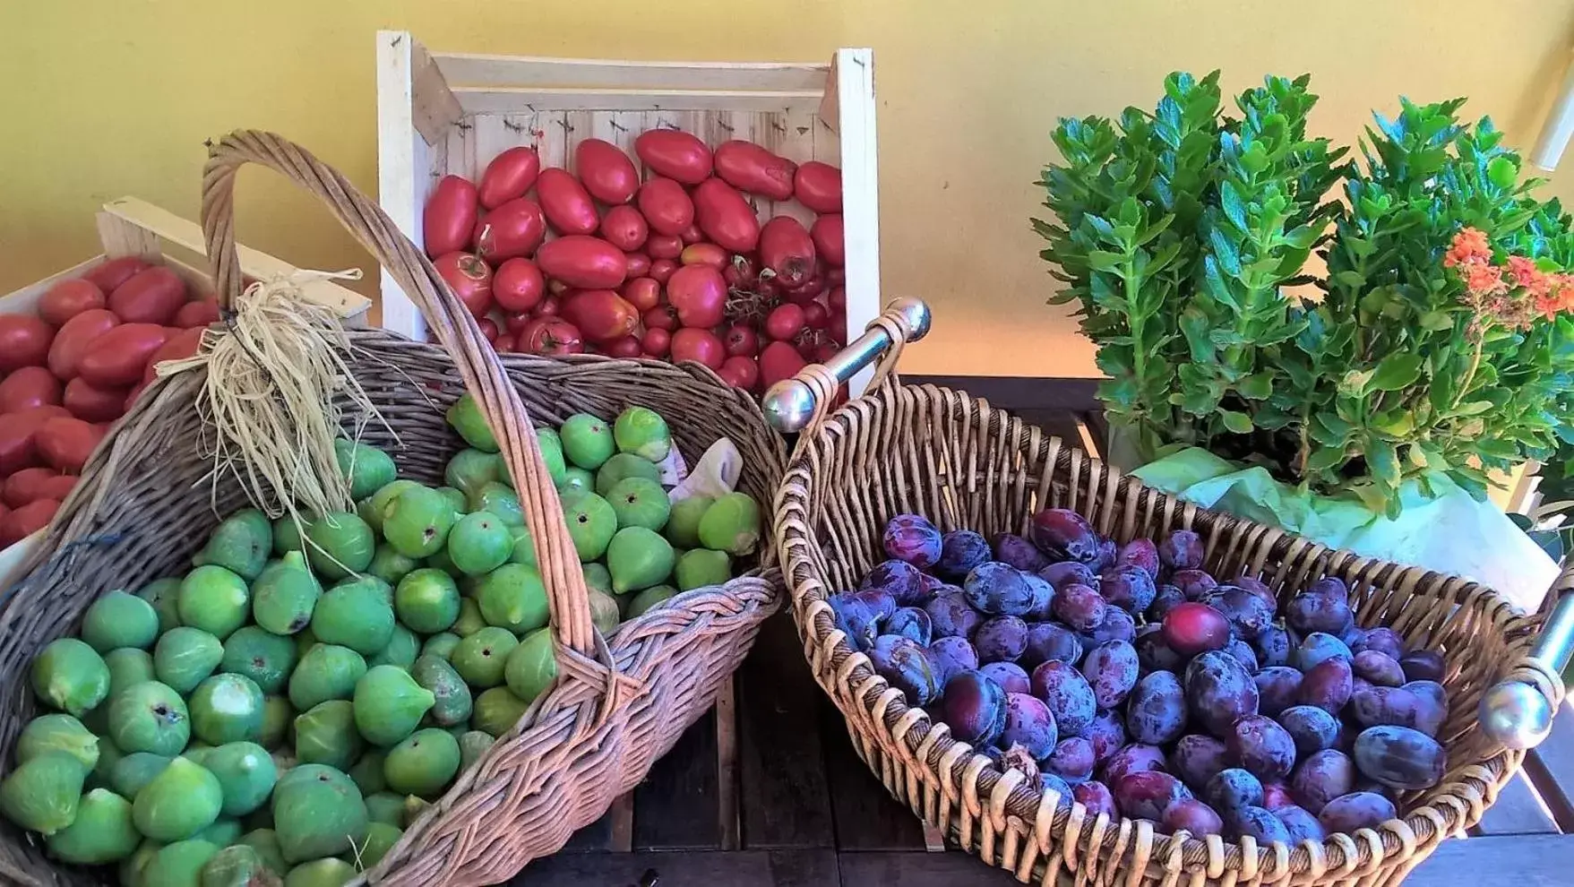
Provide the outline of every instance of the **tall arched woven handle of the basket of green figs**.
{"type": "Polygon", "coordinates": [[[201,227],[219,306],[228,310],[241,293],[241,265],[235,251],[235,175],[249,162],[282,173],[326,203],[345,230],[387,268],[400,288],[420,307],[438,342],[453,354],[464,388],[475,395],[486,425],[497,438],[529,518],[535,561],[546,585],[557,640],[581,654],[565,657],[559,649],[560,673],[581,677],[598,674],[598,682],[611,681],[611,655],[604,643],[600,643],[598,651],[600,636],[590,621],[590,599],[579,570],[579,556],[563,523],[557,488],[541,460],[530,418],[475,318],[442,282],[427,255],[409,243],[376,203],[338,170],[280,135],[244,129],[209,143],[201,183],[201,227]]]}

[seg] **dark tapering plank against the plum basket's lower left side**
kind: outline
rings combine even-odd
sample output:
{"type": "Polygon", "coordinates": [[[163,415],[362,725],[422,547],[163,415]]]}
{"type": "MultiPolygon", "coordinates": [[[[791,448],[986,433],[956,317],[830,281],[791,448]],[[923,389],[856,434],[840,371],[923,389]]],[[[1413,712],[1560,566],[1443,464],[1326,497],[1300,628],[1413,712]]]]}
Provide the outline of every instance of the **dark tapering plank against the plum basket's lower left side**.
{"type": "Polygon", "coordinates": [[[831,786],[836,846],[844,851],[907,851],[924,848],[918,816],[886,791],[853,752],[847,722],[831,700],[820,706],[825,781],[831,786]]]}

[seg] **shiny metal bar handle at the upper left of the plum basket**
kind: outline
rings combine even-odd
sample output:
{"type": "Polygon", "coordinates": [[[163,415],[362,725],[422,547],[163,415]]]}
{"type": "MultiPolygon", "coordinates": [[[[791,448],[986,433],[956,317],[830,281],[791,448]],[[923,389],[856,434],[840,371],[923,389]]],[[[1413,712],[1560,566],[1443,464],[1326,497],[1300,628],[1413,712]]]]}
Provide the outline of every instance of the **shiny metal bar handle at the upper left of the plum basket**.
{"type": "Polygon", "coordinates": [[[929,334],[929,306],[922,299],[891,299],[885,312],[869,321],[864,334],[829,361],[809,364],[798,370],[798,375],[773,384],[762,402],[765,421],[782,433],[801,432],[817,424],[817,416],[825,413],[836,388],[883,354],[875,378],[869,383],[869,388],[877,388],[896,370],[902,347],[929,334]]]}

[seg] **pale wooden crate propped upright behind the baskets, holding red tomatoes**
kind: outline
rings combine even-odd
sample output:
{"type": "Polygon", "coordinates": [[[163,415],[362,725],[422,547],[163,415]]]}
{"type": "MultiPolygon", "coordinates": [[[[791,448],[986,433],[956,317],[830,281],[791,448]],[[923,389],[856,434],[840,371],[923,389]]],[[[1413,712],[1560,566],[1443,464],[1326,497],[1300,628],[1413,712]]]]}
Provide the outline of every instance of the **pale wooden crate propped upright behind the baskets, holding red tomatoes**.
{"type": "MultiPolygon", "coordinates": [[[[428,52],[409,32],[378,32],[378,189],[382,210],[422,243],[422,206],[444,175],[477,180],[505,148],[535,145],[541,165],[573,167],[584,139],[634,158],[634,137],[677,128],[719,145],[757,142],[792,161],[842,169],[847,325],[880,314],[874,55],[826,63],[623,61],[428,52]]],[[[637,162],[637,158],[634,158],[637,162]]],[[[812,214],[751,197],[760,219],[812,214]]],[[[411,301],[384,273],[382,325],[422,337],[411,301]]]]}

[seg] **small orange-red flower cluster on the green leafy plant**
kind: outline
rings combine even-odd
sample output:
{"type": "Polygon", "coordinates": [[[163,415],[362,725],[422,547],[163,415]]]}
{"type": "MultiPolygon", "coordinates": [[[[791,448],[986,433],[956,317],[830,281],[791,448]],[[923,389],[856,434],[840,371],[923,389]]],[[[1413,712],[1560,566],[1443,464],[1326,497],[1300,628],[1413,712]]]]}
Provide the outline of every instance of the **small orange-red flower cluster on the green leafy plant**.
{"type": "Polygon", "coordinates": [[[1465,285],[1465,301],[1476,312],[1476,325],[1498,323],[1527,329],[1544,317],[1574,310],[1574,274],[1549,273],[1524,255],[1509,255],[1506,265],[1492,263],[1492,244],[1478,228],[1454,235],[1443,268],[1453,268],[1465,285]]]}

